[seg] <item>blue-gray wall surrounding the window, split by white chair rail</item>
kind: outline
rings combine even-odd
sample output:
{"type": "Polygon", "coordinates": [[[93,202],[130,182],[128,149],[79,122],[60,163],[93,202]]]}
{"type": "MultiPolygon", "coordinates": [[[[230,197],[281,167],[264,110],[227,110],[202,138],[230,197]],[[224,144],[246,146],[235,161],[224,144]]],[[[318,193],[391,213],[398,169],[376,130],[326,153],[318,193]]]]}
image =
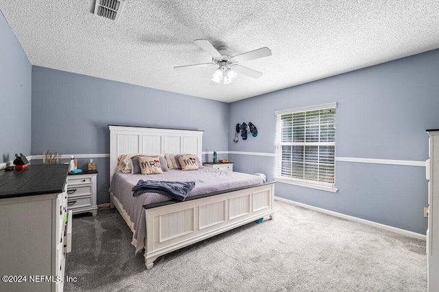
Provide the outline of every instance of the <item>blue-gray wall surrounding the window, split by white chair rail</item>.
{"type": "MultiPolygon", "coordinates": [[[[424,161],[425,129],[439,127],[438,77],[435,50],[231,103],[230,133],[249,121],[259,133],[229,139],[229,150],[274,153],[274,111],[337,102],[336,157],[424,161]]],[[[273,177],[274,157],[229,158],[234,170],[273,177]]],[[[335,194],[276,183],[276,196],[425,234],[425,168],[337,161],[335,169],[335,194]]]]}

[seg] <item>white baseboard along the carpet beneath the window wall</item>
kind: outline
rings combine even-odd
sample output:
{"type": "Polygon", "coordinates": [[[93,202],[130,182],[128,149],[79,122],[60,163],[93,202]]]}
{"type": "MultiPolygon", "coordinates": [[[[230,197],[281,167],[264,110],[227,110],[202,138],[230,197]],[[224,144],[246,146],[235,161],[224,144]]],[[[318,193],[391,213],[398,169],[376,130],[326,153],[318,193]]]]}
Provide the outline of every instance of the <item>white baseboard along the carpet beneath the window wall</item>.
{"type": "Polygon", "coordinates": [[[328,215],[331,215],[331,216],[334,216],[334,217],[339,217],[339,218],[342,218],[342,219],[346,219],[346,220],[350,220],[350,221],[354,221],[354,222],[359,222],[361,224],[366,224],[366,225],[369,225],[369,226],[374,226],[374,227],[381,228],[381,229],[388,230],[388,231],[392,231],[394,233],[398,233],[398,234],[401,234],[401,235],[406,235],[408,237],[413,237],[413,238],[421,239],[423,241],[425,241],[426,238],[427,238],[425,235],[422,235],[420,233],[414,233],[414,232],[409,231],[409,230],[404,230],[404,229],[401,229],[401,228],[396,228],[396,227],[393,227],[393,226],[388,226],[388,225],[385,225],[385,224],[369,221],[369,220],[366,220],[366,219],[361,219],[359,217],[353,217],[353,216],[350,216],[350,215],[345,215],[345,214],[342,214],[342,213],[337,213],[337,212],[334,212],[334,211],[329,211],[327,209],[313,207],[313,206],[310,206],[309,204],[303,204],[303,203],[300,203],[300,202],[295,202],[295,201],[292,201],[292,200],[287,200],[287,199],[284,199],[284,198],[280,198],[280,197],[277,197],[277,196],[274,196],[274,200],[278,200],[278,201],[281,201],[281,202],[286,202],[288,204],[294,204],[294,205],[296,205],[298,207],[310,209],[310,210],[317,211],[317,212],[320,212],[320,213],[325,213],[325,214],[328,214],[328,215]]]}

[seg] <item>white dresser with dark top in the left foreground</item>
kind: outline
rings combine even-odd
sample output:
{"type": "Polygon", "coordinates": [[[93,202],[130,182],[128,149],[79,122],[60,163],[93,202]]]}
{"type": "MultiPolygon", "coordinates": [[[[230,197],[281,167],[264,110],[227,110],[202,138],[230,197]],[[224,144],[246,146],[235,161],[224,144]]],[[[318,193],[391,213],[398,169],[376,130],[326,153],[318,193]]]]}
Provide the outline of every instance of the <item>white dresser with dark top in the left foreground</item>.
{"type": "Polygon", "coordinates": [[[0,170],[0,291],[62,291],[69,165],[0,170]],[[9,276],[9,278],[5,278],[9,276]]]}

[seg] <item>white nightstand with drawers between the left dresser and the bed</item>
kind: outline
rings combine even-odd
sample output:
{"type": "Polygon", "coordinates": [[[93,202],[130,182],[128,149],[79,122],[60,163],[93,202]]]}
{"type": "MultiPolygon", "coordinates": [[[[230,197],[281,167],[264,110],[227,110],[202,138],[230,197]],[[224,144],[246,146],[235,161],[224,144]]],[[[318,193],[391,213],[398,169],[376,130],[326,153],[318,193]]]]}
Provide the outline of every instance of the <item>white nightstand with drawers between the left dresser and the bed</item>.
{"type": "Polygon", "coordinates": [[[96,170],[67,176],[67,209],[73,214],[90,212],[96,216],[96,178],[96,170]]]}

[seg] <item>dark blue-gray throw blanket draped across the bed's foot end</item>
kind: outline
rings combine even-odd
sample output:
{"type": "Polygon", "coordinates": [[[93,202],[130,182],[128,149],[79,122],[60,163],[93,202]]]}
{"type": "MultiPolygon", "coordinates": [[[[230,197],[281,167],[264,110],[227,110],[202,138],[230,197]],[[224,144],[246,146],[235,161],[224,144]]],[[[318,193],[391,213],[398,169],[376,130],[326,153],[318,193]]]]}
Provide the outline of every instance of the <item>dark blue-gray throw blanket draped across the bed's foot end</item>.
{"type": "Polygon", "coordinates": [[[139,196],[143,193],[158,193],[184,201],[193,187],[195,187],[195,181],[143,181],[141,179],[137,185],[132,187],[132,196],[139,196]]]}

